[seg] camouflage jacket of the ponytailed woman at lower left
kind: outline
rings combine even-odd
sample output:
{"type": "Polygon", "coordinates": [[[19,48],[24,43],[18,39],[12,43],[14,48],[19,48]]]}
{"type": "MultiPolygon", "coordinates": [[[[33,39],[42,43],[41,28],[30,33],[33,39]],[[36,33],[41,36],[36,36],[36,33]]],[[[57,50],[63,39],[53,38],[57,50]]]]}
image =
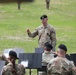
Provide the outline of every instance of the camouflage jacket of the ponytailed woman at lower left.
{"type": "Polygon", "coordinates": [[[2,69],[2,75],[24,75],[25,74],[25,68],[23,65],[15,64],[15,67],[13,68],[12,63],[8,63],[6,66],[2,69]]]}

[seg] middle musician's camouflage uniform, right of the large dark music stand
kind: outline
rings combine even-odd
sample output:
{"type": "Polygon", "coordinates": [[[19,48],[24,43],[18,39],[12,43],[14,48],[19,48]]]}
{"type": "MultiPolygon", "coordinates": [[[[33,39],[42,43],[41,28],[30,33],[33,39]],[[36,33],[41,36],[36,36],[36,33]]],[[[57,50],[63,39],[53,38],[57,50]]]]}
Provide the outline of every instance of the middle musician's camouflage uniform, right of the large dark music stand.
{"type": "Polygon", "coordinates": [[[46,70],[44,71],[42,68],[42,71],[38,72],[38,75],[46,75],[47,74],[47,64],[49,63],[49,60],[54,58],[54,54],[52,54],[51,51],[44,51],[42,54],[42,67],[45,67],[46,70]]]}

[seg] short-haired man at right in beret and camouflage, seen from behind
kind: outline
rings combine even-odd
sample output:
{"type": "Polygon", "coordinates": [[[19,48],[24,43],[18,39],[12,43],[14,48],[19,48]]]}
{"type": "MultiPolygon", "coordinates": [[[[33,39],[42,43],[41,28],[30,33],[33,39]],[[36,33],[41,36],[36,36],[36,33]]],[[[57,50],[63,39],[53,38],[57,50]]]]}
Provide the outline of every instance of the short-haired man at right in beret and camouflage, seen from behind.
{"type": "Polygon", "coordinates": [[[50,60],[47,65],[48,75],[76,75],[74,63],[65,57],[66,52],[67,47],[64,44],[60,44],[58,56],[50,60]]]}

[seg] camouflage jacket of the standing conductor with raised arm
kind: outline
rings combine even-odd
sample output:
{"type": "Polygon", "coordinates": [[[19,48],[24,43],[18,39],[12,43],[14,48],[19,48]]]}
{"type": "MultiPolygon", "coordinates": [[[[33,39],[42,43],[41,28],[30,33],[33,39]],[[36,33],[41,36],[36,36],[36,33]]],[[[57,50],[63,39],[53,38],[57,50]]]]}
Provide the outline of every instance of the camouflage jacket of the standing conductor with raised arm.
{"type": "Polygon", "coordinates": [[[43,25],[39,26],[33,33],[28,33],[29,37],[36,37],[38,35],[39,47],[44,47],[46,42],[49,42],[54,48],[56,46],[56,33],[54,28],[51,25],[44,27],[43,25]]]}

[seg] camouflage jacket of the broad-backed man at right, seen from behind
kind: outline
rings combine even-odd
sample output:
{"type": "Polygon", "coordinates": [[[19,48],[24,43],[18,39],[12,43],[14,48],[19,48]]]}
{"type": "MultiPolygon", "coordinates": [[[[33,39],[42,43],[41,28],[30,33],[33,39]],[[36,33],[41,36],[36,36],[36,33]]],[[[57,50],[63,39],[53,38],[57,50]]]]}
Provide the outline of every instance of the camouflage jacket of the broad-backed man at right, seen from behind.
{"type": "Polygon", "coordinates": [[[73,67],[68,59],[56,57],[47,65],[48,75],[76,75],[73,67]]]}

